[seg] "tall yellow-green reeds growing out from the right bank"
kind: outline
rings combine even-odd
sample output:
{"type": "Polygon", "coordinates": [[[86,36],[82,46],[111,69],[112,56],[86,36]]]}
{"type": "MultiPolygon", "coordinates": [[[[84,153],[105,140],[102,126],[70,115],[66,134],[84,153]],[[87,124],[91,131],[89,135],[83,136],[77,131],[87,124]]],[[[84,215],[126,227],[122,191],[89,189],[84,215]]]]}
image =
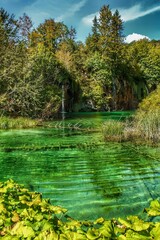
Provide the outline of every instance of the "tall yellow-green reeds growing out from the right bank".
{"type": "Polygon", "coordinates": [[[137,110],[131,120],[109,120],[102,126],[106,141],[160,142],[160,109],[137,110]]]}

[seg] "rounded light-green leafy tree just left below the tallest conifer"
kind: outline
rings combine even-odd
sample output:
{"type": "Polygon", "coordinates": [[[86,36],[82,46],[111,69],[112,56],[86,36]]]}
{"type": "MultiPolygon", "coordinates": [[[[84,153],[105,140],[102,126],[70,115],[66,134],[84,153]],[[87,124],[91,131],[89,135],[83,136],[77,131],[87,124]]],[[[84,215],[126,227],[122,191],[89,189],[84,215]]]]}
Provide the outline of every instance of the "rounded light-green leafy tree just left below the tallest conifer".
{"type": "Polygon", "coordinates": [[[88,83],[85,93],[94,110],[109,110],[111,100],[111,71],[98,52],[86,60],[88,83]]]}

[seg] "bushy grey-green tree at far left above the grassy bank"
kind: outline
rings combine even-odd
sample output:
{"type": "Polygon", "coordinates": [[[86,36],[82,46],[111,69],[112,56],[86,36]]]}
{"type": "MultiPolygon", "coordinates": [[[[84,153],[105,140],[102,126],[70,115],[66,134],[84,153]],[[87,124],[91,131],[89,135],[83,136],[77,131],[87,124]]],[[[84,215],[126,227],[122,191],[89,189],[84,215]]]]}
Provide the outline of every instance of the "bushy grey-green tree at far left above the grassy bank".
{"type": "Polygon", "coordinates": [[[41,79],[34,78],[34,61],[26,54],[23,44],[17,44],[15,53],[4,61],[6,82],[0,97],[1,112],[10,116],[36,117],[41,107],[41,79]],[[7,66],[9,66],[7,68],[7,66]]]}

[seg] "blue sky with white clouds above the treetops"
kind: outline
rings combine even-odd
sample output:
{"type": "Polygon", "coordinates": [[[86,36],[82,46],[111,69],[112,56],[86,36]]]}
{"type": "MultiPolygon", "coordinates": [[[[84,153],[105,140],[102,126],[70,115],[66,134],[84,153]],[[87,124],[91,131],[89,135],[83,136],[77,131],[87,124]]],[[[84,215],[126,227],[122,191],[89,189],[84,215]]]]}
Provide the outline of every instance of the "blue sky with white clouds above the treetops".
{"type": "Polygon", "coordinates": [[[0,7],[16,18],[25,12],[37,27],[45,19],[54,18],[73,26],[77,39],[84,41],[91,30],[92,19],[103,5],[118,9],[124,21],[127,41],[146,36],[160,39],[160,0],[0,0],[0,7]]]}

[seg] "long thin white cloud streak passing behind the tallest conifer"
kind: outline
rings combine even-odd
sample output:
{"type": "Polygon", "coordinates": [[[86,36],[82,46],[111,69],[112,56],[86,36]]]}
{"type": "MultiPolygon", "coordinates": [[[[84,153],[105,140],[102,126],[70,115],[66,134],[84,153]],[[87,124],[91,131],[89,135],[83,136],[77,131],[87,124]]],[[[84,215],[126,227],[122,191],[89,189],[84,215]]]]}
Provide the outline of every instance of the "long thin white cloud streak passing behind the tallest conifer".
{"type": "MultiPolygon", "coordinates": [[[[112,12],[115,12],[116,9],[112,9],[112,12]]],[[[151,13],[154,13],[154,12],[157,12],[157,11],[160,11],[160,6],[157,6],[157,7],[153,7],[153,8],[150,8],[148,10],[143,10],[142,9],[142,5],[141,4],[137,4],[137,5],[134,5],[130,8],[119,8],[118,9],[120,15],[121,15],[121,18],[124,22],[128,22],[128,21],[131,21],[131,20],[135,20],[135,19],[138,19],[140,17],[144,17],[146,15],[149,15],[151,13]]],[[[93,18],[95,16],[99,16],[99,13],[96,12],[96,13],[92,13],[88,16],[85,16],[84,18],[82,18],[82,22],[87,25],[87,26],[91,26],[92,25],[92,21],[93,21],[93,18]]]]}

